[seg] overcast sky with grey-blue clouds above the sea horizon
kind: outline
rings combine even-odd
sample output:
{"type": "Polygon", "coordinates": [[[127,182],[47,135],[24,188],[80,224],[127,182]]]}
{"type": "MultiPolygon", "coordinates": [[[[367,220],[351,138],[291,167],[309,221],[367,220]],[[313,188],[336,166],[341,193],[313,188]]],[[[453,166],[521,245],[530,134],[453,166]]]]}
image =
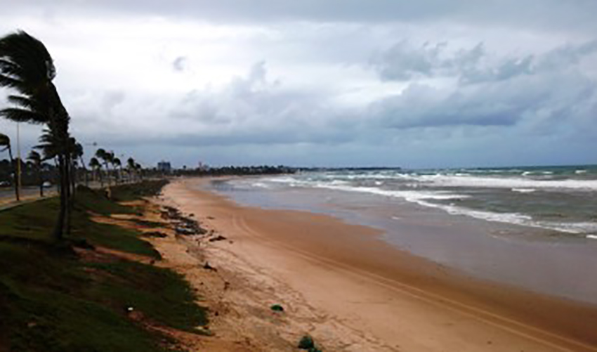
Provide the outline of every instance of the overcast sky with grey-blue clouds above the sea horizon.
{"type": "Polygon", "coordinates": [[[0,4],[1,35],[48,47],[87,159],[597,163],[594,0],[0,4]]]}

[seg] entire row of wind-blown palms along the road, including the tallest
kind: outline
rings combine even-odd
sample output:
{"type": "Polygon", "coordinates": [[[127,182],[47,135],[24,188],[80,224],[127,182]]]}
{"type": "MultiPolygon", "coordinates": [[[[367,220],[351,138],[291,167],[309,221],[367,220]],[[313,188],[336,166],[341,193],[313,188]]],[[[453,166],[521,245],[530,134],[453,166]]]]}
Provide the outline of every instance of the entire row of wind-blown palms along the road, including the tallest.
{"type": "MultiPolygon", "coordinates": [[[[55,77],[53,59],[41,41],[23,31],[0,38],[0,87],[10,92],[10,106],[0,110],[0,117],[43,126],[39,145],[29,152],[26,163],[14,157],[11,138],[0,131],[0,152],[8,152],[8,167],[12,171],[8,182],[13,185],[15,199],[19,201],[19,171],[24,170],[26,175],[29,171],[37,174],[42,195],[44,180],[54,177],[59,190],[60,210],[53,237],[60,241],[70,233],[77,179],[80,180],[83,175],[84,182],[88,183],[89,173],[83,160],[84,148],[70,133],[71,117],[53,83],[55,77]]],[[[6,163],[0,163],[0,166],[6,167],[6,163]]],[[[108,185],[112,181],[124,181],[124,174],[128,175],[127,180],[132,180],[133,176],[140,178],[142,174],[142,168],[133,158],[129,158],[126,170],[123,170],[120,159],[103,148],[96,151],[89,167],[91,176],[99,178],[102,186],[104,181],[108,185]]]]}

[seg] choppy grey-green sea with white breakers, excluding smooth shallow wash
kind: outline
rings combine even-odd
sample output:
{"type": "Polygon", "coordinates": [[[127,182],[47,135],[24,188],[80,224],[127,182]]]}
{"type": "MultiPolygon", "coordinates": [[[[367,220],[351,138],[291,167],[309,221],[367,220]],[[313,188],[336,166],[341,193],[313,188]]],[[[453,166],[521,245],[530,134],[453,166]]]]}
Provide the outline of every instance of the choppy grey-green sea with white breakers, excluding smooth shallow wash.
{"type": "Polygon", "coordinates": [[[597,166],[310,172],[233,183],[367,193],[447,214],[597,239],[597,166]]]}

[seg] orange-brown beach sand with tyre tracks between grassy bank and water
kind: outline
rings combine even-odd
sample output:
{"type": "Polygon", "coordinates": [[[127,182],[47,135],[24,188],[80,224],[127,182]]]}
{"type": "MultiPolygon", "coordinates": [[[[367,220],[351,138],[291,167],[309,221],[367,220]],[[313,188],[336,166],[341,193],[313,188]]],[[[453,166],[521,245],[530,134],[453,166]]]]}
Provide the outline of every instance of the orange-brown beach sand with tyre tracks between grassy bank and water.
{"type": "Polygon", "coordinates": [[[206,182],[174,181],[161,202],[226,240],[153,241],[210,309],[214,336],[192,348],[293,351],[310,334],[324,351],[597,351],[596,307],[466,278],[331,216],[242,207],[206,182]]]}

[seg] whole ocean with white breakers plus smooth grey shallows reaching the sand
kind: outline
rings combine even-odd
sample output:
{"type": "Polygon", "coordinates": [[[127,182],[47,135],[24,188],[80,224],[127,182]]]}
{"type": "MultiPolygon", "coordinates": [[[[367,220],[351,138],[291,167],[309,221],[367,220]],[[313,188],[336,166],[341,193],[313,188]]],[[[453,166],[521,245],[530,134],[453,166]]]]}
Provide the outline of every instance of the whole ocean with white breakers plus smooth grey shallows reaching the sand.
{"type": "Polygon", "coordinates": [[[391,245],[467,275],[597,304],[597,166],[336,170],[213,188],[379,228],[391,245]]]}

